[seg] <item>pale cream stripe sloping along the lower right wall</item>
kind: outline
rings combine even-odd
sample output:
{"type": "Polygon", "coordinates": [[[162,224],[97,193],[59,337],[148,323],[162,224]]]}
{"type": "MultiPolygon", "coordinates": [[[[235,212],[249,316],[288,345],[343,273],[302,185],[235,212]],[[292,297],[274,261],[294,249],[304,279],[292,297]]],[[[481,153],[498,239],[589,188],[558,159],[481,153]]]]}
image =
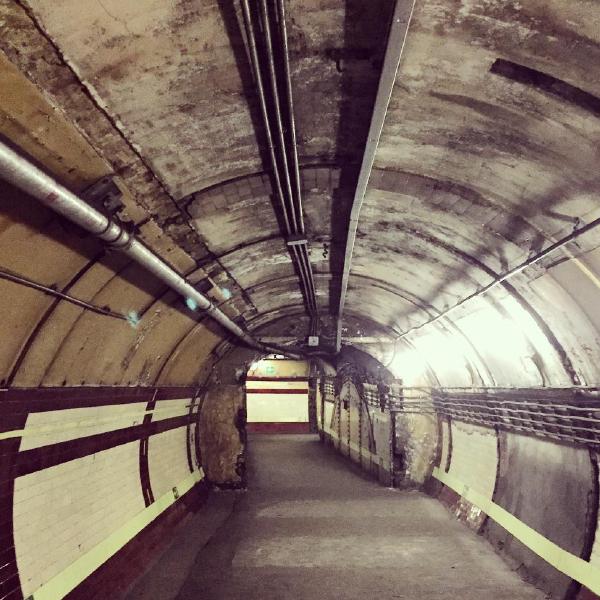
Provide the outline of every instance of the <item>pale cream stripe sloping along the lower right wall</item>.
{"type": "Polygon", "coordinates": [[[595,594],[600,594],[600,569],[594,567],[588,561],[567,552],[554,542],[545,538],[523,521],[520,521],[507,510],[486,498],[479,492],[462,483],[452,475],[445,473],[439,467],[433,470],[433,476],[444,485],[452,488],[465,500],[474,504],[489,517],[494,519],[498,525],[514,535],[521,543],[551,564],[555,569],[585,585],[595,594]]]}

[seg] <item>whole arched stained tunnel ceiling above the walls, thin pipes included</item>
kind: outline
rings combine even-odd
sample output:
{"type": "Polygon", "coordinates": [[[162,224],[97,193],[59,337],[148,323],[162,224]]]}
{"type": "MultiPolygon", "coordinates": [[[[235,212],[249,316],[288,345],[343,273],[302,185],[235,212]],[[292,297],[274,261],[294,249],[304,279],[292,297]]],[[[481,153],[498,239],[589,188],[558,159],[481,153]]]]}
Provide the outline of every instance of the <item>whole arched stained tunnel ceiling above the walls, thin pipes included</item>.
{"type": "Polygon", "coordinates": [[[225,323],[297,345],[318,315],[320,350],[359,345],[415,380],[597,382],[596,13],[3,3],[4,139],[77,195],[112,177],[119,219],[226,317],[198,323],[164,280],[6,188],[4,379],[69,382],[98,335],[106,356],[77,382],[186,379],[225,323]]]}

